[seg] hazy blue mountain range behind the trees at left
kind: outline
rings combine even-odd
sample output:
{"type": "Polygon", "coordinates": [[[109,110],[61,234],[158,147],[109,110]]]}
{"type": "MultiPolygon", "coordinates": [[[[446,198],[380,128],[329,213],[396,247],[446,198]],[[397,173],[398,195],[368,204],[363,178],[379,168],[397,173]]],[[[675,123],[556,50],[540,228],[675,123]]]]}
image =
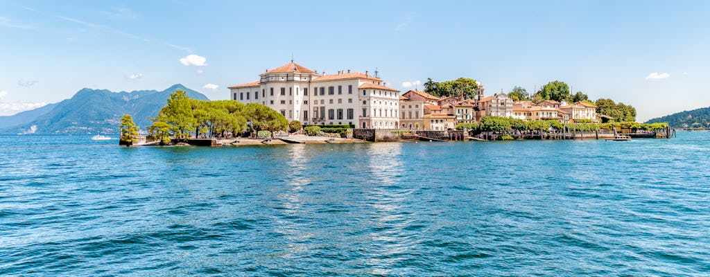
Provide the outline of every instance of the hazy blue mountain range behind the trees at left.
{"type": "Polygon", "coordinates": [[[204,94],[182,84],[164,91],[82,89],[59,103],[0,116],[0,134],[117,134],[124,114],[133,115],[136,125],[146,130],[153,124],[150,118],[158,115],[176,90],[185,91],[190,98],[209,100],[204,94]]]}

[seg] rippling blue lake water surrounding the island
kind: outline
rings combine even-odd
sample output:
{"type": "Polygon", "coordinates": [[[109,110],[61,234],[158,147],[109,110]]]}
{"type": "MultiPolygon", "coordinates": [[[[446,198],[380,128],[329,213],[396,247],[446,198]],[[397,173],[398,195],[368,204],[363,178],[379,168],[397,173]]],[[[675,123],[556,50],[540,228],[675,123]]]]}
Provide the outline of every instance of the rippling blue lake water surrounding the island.
{"type": "Polygon", "coordinates": [[[0,276],[708,276],[710,133],[119,147],[0,136],[0,276]]]}

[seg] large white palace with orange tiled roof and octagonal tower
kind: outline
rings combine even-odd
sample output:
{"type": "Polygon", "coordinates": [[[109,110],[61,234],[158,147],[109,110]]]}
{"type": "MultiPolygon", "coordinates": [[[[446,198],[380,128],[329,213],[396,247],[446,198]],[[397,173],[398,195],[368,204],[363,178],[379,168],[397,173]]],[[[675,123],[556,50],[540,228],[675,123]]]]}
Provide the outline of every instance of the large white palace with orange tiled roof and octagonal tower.
{"type": "Polygon", "coordinates": [[[231,98],[261,103],[304,125],[375,129],[399,125],[399,91],[368,72],[318,74],[291,61],[259,77],[259,81],[230,86],[231,98]]]}

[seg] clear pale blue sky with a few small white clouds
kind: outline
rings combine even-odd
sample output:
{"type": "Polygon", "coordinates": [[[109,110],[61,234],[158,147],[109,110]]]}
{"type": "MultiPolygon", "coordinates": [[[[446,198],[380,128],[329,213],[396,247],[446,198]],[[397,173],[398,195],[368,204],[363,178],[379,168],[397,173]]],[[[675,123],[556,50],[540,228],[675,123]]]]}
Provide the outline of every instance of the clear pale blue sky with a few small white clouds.
{"type": "Polygon", "coordinates": [[[710,1],[0,0],[0,115],[84,87],[181,83],[226,99],[227,86],[293,53],[318,72],[377,68],[402,91],[427,77],[473,78],[486,95],[560,80],[643,121],[710,106],[708,11],[710,1]]]}

